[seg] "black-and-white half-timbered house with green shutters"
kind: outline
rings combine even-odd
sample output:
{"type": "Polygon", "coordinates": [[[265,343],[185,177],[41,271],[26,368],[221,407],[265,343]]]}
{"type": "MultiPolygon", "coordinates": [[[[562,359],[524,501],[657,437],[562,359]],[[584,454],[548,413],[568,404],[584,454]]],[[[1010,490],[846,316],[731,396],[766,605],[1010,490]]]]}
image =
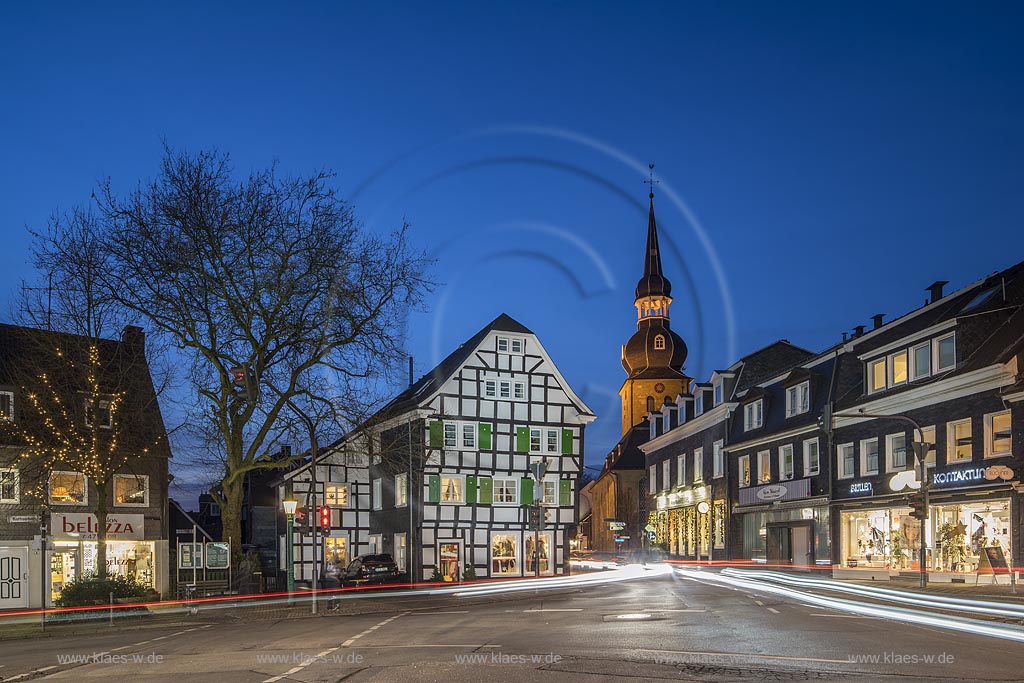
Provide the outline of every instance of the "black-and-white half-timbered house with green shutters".
{"type": "Polygon", "coordinates": [[[538,336],[499,315],[325,449],[314,472],[307,462],[285,475],[282,500],[297,500],[310,518],[325,506],[331,515],[315,546],[308,524],[283,538],[296,581],[312,579],[314,558],[317,575],[329,577],[378,553],[412,581],[567,572],[594,419],[538,336]],[[529,523],[535,499],[540,532],[529,523]]]}

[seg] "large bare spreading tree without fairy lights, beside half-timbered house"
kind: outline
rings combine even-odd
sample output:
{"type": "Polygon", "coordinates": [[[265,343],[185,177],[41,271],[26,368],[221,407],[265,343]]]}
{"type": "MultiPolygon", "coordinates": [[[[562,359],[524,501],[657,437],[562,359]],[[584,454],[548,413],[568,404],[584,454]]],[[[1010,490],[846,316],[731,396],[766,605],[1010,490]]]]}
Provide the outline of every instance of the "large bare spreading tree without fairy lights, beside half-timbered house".
{"type": "Polygon", "coordinates": [[[296,405],[339,429],[365,414],[367,380],[392,365],[403,314],[429,287],[407,226],[366,232],[332,177],[271,167],[237,179],[226,155],[166,148],[154,180],[97,191],[105,290],[177,347],[236,553],[246,473],[286,464],[296,405]]]}

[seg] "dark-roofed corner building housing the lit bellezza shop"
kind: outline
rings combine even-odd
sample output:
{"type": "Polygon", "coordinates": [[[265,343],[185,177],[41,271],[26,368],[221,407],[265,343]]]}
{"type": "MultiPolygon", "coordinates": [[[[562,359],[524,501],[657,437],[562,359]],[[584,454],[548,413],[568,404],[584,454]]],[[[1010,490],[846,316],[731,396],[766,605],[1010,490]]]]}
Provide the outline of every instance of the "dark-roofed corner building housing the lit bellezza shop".
{"type": "Polygon", "coordinates": [[[97,572],[103,507],[106,572],[171,590],[171,453],[144,347],[136,327],[110,340],[0,325],[0,610],[52,606],[67,584],[97,572]],[[89,349],[92,391],[79,373],[89,349]],[[47,400],[62,410],[44,427],[47,400]],[[98,466],[76,444],[93,432],[118,436],[98,466]],[[89,471],[103,472],[104,500],[89,471]]]}

